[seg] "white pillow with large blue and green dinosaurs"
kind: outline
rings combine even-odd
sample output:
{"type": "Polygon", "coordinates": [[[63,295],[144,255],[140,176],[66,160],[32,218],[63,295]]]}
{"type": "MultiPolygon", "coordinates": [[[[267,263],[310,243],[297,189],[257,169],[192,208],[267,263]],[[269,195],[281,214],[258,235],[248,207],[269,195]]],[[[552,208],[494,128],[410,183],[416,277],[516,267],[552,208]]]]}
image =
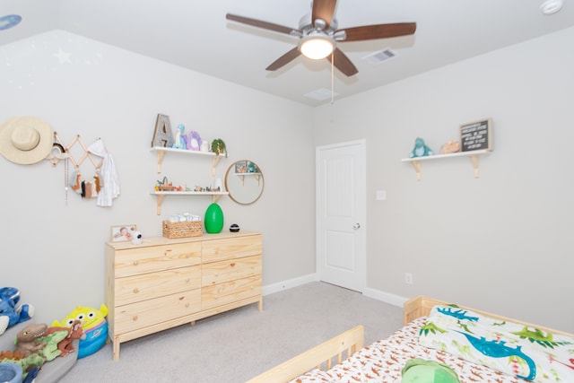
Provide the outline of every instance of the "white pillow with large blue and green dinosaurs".
{"type": "Polygon", "coordinates": [[[420,344],[517,378],[574,382],[574,339],[459,309],[435,306],[420,344]]]}

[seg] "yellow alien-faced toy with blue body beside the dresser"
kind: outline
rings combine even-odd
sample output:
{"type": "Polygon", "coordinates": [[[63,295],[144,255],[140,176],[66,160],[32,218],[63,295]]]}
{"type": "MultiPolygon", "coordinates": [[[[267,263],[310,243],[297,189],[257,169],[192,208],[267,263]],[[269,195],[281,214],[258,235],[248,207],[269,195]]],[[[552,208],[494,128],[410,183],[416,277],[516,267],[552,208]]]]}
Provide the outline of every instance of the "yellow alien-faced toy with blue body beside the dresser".
{"type": "Polygon", "coordinates": [[[52,326],[70,327],[74,324],[74,320],[82,321],[82,329],[86,337],[81,339],[78,345],[78,359],[81,359],[97,352],[106,343],[108,321],[105,317],[107,315],[108,308],[104,304],[100,306],[100,309],[78,306],[64,318],[62,323],[55,320],[52,326]]]}

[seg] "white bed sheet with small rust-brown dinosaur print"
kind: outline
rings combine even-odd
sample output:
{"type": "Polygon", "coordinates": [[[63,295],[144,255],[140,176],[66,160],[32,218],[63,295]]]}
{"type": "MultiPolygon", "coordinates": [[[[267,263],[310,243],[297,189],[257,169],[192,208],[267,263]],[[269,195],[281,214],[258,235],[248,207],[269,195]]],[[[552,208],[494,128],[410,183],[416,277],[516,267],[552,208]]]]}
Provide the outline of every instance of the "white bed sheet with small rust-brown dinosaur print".
{"type": "Polygon", "coordinates": [[[522,379],[465,361],[442,350],[422,346],[419,344],[419,334],[425,320],[426,317],[413,320],[387,339],[362,348],[331,370],[312,370],[291,380],[291,383],[399,383],[406,361],[413,358],[447,364],[457,372],[462,383],[525,383],[522,379]]]}

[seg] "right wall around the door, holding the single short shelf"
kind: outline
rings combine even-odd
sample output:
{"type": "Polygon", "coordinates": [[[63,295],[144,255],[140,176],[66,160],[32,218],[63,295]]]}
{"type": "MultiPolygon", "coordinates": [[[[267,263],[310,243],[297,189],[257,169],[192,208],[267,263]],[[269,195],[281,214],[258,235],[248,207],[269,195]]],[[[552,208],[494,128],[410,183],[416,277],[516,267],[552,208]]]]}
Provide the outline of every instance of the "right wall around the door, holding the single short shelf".
{"type": "Polygon", "coordinates": [[[316,145],[367,139],[370,289],[574,332],[572,40],[562,30],[316,109],[316,145]],[[466,158],[423,162],[420,182],[401,162],[415,137],[438,152],[489,117],[481,178],[466,158]]]}

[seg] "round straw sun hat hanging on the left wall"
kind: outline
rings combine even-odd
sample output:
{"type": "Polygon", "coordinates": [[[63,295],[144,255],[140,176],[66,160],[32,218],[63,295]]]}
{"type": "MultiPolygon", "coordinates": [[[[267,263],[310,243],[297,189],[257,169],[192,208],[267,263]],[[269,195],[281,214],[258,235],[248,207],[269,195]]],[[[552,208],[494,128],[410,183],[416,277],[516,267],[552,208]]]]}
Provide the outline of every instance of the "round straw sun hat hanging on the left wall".
{"type": "Polygon", "coordinates": [[[44,160],[52,150],[52,126],[40,118],[10,118],[0,126],[0,153],[6,160],[30,165],[44,160]]]}

